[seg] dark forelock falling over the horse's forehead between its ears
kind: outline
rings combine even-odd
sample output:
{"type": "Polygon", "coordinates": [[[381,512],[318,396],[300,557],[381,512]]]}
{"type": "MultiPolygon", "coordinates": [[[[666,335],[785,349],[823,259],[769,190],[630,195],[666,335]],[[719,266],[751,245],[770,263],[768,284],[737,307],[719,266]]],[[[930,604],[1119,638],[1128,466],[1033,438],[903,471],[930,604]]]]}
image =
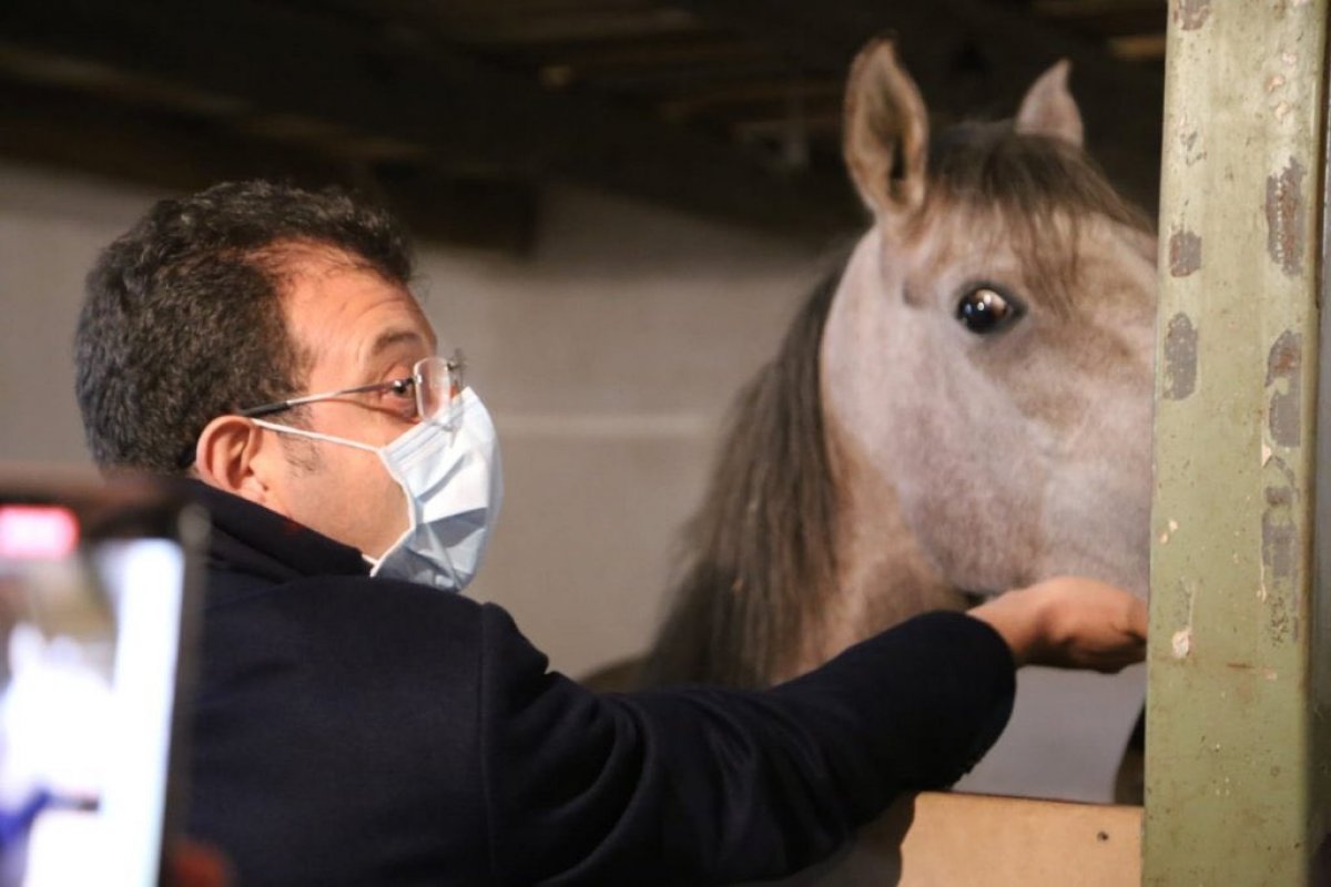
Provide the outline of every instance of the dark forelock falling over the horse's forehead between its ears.
{"type": "Polygon", "coordinates": [[[926,202],[918,225],[970,215],[973,231],[1012,245],[1029,271],[1032,295],[1067,314],[1077,291],[1081,227],[1091,217],[1150,231],[1079,148],[1018,133],[1010,122],[958,124],[930,145],[926,202]]]}

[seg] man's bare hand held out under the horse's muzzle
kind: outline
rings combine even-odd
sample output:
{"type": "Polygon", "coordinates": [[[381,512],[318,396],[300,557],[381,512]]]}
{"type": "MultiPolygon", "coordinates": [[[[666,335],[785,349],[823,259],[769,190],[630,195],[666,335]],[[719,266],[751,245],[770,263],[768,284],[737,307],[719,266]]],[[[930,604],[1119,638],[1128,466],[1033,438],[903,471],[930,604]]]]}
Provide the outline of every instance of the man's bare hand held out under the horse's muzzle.
{"type": "Polygon", "coordinates": [[[1008,642],[1017,665],[1113,673],[1146,656],[1146,604],[1093,578],[1059,576],[969,613],[1008,642]]]}

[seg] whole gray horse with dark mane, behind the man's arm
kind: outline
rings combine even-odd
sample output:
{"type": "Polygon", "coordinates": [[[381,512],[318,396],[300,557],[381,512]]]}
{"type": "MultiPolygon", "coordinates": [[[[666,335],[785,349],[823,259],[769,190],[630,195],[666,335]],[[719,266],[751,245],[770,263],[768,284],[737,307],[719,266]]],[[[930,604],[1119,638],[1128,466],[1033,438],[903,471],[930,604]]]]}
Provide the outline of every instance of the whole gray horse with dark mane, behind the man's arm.
{"type": "MultiPolygon", "coordinates": [[[[768,685],[1061,573],[1146,593],[1155,237],[1066,82],[930,141],[893,45],[858,56],[845,158],[874,225],[741,395],[644,682],[768,685]]],[[[1142,696],[1139,666],[1028,669],[960,787],[1109,799],[1142,696]]]]}

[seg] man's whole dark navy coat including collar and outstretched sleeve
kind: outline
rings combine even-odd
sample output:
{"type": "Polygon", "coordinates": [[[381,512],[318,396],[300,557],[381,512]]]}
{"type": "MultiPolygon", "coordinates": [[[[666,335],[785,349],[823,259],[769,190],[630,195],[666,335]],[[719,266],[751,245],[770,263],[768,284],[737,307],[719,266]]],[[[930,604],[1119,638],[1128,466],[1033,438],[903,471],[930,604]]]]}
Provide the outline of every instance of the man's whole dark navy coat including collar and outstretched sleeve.
{"type": "Polygon", "coordinates": [[[767,692],[596,696],[499,606],[197,485],[190,832],[241,887],[709,884],[825,856],[1006,723],[996,632],[922,616],[767,692]]]}

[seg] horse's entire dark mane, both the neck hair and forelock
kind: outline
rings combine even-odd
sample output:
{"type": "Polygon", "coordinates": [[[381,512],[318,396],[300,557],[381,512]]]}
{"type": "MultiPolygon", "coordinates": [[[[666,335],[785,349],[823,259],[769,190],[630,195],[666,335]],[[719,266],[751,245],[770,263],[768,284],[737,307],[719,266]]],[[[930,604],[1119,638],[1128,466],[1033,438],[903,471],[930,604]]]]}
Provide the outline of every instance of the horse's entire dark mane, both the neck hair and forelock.
{"type": "MultiPolygon", "coordinates": [[[[921,217],[998,213],[992,221],[1013,238],[1034,279],[1071,283],[1075,267],[1066,257],[1079,217],[1150,227],[1081,150],[1017,134],[1010,124],[945,132],[932,146],[926,194],[921,217]]],[[[643,684],[760,686],[835,593],[837,499],[819,348],[843,270],[817,285],[777,355],[737,398],[705,501],[684,533],[685,568],[643,662],[643,684]]],[[[1047,289],[1042,301],[1070,307],[1057,297],[1069,286],[1047,289]]]]}

